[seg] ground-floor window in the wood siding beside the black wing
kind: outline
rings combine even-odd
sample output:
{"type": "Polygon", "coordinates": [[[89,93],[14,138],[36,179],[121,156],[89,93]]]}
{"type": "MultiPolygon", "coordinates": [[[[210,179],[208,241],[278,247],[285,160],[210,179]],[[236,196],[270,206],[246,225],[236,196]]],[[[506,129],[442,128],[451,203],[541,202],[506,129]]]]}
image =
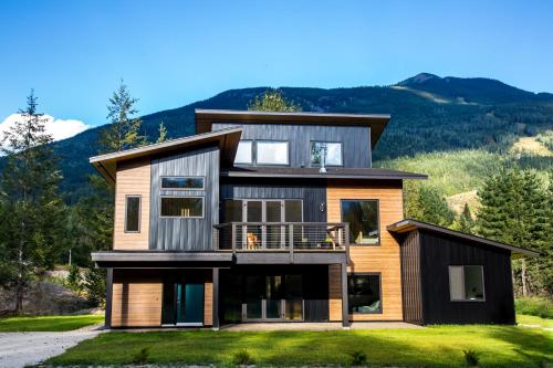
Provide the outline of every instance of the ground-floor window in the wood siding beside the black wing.
{"type": "Polygon", "coordinates": [[[380,275],[352,274],[347,277],[349,313],[382,313],[380,275]]]}

